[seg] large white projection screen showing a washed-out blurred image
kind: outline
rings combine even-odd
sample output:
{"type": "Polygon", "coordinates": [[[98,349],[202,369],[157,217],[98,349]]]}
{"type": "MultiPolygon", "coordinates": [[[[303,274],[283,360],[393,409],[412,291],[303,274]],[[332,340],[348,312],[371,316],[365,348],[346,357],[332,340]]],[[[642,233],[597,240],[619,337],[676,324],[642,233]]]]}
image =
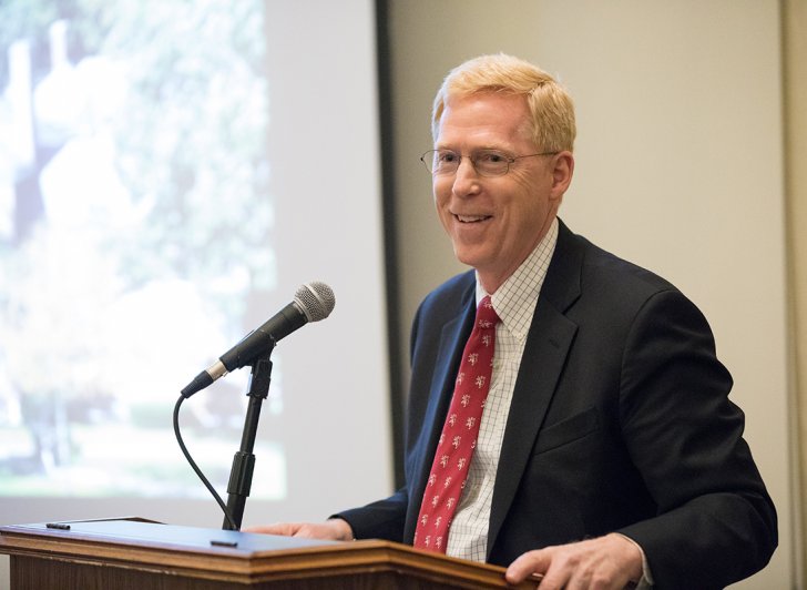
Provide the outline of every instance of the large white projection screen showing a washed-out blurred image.
{"type": "MultiPolygon", "coordinates": [[[[304,283],[244,525],[392,486],[372,2],[0,4],[0,522],[221,527],[180,389],[304,283]],[[370,442],[371,441],[371,442],[370,442]]],[[[225,497],[248,368],[186,400],[225,497]]]]}

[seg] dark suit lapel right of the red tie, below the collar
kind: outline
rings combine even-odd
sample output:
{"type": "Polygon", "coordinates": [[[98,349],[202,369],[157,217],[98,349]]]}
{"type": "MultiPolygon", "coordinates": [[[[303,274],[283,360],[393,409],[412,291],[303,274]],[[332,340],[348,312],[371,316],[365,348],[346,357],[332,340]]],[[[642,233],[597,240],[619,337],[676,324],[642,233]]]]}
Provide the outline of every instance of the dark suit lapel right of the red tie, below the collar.
{"type": "Polygon", "coordinates": [[[564,313],[580,296],[582,260],[580,241],[561,222],[513,389],[493,488],[488,557],[515,497],[578,330],[564,313]]]}

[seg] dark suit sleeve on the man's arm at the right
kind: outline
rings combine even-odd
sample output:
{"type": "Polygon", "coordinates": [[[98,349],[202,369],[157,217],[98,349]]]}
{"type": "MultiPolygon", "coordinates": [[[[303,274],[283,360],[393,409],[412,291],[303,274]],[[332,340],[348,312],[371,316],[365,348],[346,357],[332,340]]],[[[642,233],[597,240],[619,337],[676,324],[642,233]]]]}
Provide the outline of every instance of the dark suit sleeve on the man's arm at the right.
{"type": "Polygon", "coordinates": [[[644,549],[656,588],[723,588],[776,548],[776,511],[731,387],[701,312],[676,291],[652,296],[625,346],[620,407],[658,516],[620,532],[644,549]]]}

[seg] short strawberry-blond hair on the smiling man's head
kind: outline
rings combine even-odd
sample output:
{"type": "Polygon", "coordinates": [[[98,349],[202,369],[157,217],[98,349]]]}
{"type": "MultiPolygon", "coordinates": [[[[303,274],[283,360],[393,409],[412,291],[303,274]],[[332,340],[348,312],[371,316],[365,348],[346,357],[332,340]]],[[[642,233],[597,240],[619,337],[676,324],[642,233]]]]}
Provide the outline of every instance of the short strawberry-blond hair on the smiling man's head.
{"type": "Polygon", "coordinates": [[[481,92],[504,92],[527,99],[532,115],[529,131],[539,151],[574,149],[574,104],[566,90],[543,70],[504,53],[474,58],[449,72],[435,96],[435,141],[449,99],[481,92]]]}

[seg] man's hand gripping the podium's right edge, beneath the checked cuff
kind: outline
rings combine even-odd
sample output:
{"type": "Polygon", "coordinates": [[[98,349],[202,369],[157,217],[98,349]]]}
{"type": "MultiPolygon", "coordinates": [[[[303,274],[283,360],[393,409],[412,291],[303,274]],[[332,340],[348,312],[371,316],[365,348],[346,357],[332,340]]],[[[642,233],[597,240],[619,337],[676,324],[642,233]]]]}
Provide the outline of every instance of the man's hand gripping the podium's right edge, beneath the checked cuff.
{"type": "Polygon", "coordinates": [[[515,584],[531,573],[543,576],[541,590],[591,588],[622,590],[642,578],[639,546],[620,535],[528,551],[505,573],[515,584]]]}

